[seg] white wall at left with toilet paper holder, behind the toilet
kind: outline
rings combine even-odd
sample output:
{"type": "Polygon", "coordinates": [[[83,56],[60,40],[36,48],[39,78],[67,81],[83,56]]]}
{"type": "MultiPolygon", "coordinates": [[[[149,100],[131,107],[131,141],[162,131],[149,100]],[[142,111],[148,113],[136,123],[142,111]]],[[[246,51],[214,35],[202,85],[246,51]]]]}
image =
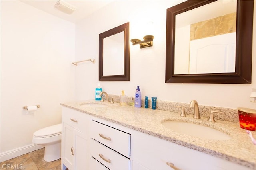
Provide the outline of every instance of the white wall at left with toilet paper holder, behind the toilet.
{"type": "Polygon", "coordinates": [[[75,24],[20,1],[1,1],[1,154],[61,123],[74,100],[75,24]],[[34,115],[23,106],[40,105],[34,115]]]}

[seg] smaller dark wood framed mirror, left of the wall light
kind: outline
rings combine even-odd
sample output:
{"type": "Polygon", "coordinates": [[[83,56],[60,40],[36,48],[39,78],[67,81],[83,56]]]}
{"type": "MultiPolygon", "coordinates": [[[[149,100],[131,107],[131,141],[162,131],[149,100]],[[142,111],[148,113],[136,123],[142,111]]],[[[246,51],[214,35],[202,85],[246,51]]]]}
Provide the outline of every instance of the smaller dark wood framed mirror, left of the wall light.
{"type": "Polygon", "coordinates": [[[130,23],[99,34],[99,81],[130,80],[130,23]]]}

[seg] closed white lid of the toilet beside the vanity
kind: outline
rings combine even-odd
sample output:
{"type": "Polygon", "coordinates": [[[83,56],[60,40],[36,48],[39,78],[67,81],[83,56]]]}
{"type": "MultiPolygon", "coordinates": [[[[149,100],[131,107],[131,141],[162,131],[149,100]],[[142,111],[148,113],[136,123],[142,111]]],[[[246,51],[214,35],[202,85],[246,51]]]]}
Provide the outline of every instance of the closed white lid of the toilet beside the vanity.
{"type": "Polygon", "coordinates": [[[50,137],[61,134],[61,123],[40,129],[34,133],[34,137],[50,137]]]}

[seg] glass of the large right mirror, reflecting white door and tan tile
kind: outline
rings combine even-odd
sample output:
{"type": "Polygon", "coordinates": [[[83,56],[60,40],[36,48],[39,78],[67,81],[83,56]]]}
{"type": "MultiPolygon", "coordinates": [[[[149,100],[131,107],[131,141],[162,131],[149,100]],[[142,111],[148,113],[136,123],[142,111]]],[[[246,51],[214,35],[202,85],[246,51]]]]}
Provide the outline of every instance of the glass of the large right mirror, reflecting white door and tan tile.
{"type": "Polygon", "coordinates": [[[235,72],[236,1],[183,12],[175,24],[174,74],[235,72]]]}

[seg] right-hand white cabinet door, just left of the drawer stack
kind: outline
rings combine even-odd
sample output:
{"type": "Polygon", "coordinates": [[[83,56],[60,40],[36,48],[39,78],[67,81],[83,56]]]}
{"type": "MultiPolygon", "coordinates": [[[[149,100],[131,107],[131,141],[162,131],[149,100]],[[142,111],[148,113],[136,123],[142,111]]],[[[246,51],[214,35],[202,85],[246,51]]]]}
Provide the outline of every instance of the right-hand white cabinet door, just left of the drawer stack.
{"type": "Polygon", "coordinates": [[[86,170],[88,169],[88,141],[84,133],[74,129],[74,165],[73,169],[75,170],[86,170]]]}

